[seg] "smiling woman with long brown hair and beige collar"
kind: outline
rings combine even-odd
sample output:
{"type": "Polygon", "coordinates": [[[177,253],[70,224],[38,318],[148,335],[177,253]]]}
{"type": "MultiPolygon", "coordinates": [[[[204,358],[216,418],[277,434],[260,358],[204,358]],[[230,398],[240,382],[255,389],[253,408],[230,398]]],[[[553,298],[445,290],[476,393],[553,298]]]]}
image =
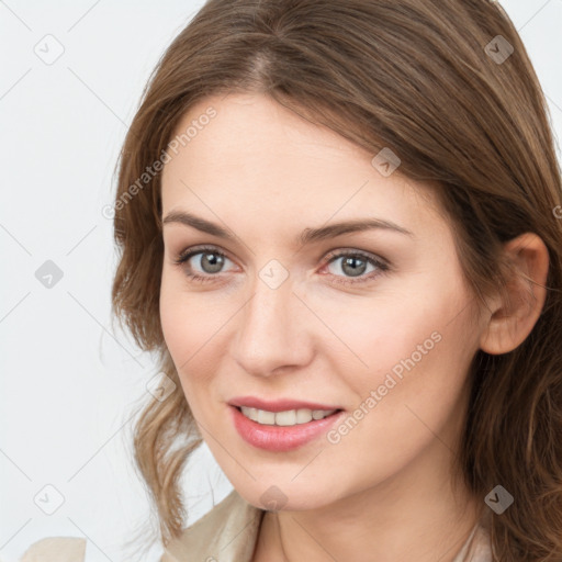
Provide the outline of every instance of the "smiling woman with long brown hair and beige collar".
{"type": "Polygon", "coordinates": [[[497,3],[210,0],[115,199],[161,561],[562,560],[561,201],[497,3]]]}

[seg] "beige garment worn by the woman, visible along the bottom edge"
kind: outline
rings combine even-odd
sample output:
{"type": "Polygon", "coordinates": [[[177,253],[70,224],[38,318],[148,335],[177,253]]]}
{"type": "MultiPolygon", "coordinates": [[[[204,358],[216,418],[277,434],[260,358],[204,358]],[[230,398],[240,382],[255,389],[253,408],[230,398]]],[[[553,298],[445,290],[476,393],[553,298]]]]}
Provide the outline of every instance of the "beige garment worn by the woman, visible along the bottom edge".
{"type": "MultiPolygon", "coordinates": [[[[168,544],[160,562],[250,562],[265,513],[233,490],[168,544]]],[[[86,539],[52,537],[33,543],[20,562],[85,562],[85,554],[86,539]]],[[[492,562],[482,527],[474,527],[453,562],[492,562]]]]}

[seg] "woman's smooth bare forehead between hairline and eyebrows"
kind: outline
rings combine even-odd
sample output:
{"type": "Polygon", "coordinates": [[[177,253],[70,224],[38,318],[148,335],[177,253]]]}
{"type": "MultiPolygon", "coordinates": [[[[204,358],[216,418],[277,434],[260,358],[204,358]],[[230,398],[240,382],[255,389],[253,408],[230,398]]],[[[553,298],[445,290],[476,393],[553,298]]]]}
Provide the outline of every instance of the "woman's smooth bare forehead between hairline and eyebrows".
{"type": "Polygon", "coordinates": [[[162,214],[196,209],[210,220],[227,213],[270,228],[300,218],[306,227],[378,216],[409,229],[440,221],[428,186],[400,171],[384,177],[371,164],[374,154],[260,94],[202,100],[175,139],[162,171],[162,214]]]}

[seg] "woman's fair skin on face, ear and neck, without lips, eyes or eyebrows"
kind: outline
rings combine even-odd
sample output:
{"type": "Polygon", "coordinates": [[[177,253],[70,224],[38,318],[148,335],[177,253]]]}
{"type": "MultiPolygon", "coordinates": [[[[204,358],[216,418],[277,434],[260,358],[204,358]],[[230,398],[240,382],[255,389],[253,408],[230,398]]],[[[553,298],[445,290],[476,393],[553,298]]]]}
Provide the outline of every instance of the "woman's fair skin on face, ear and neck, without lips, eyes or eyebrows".
{"type": "MultiPolygon", "coordinates": [[[[491,297],[477,315],[430,186],[400,168],[382,176],[374,154],[260,94],[207,98],[177,132],[210,105],[216,117],[164,168],[162,216],[189,211],[236,238],[164,225],[160,315],[186,400],[229,482],[260,508],[272,485],[286,496],[266,513],[254,562],[396,562],[414,552],[418,562],[451,562],[483,508],[451,481],[470,360],[479,348],[506,352],[522,341],[543,289],[513,310],[491,297]],[[413,235],[371,229],[295,243],[305,228],[374,216],[413,235]],[[206,252],[175,263],[201,244],[226,255],[218,273],[202,262],[206,252]],[[353,277],[345,257],[333,259],[341,250],[362,250],[391,269],[358,282],[376,266],[353,277]],[[277,289],[259,277],[272,259],[289,273],[277,289]],[[198,283],[190,268],[214,277],[198,283]],[[232,424],[227,402],[240,395],[352,413],[432,333],[439,342],[338,443],[323,436],[293,451],[263,451],[232,424]]],[[[506,249],[544,284],[540,238],[526,235],[506,249]]]]}

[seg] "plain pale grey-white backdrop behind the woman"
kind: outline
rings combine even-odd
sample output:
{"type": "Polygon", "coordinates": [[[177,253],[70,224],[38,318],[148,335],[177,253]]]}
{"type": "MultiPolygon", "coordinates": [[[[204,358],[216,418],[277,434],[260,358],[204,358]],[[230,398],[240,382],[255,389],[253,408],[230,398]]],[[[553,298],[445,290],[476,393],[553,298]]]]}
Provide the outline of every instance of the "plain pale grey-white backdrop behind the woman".
{"type": "MultiPolygon", "coordinates": [[[[0,1],[2,562],[53,536],[86,537],[87,562],[139,560],[124,544],[150,517],[131,417],[150,398],[157,369],[111,325],[116,256],[101,210],[112,203],[115,161],[149,72],[202,4],[0,1]],[[48,34],[64,47],[53,64],[34,50],[60,48],[48,34]],[[63,271],[50,289],[35,277],[46,260],[63,271]],[[64,497],[53,515],[40,508],[56,505],[46,485],[64,497]]],[[[560,139],[562,0],[502,5],[560,139]]],[[[206,446],[190,465],[192,522],[232,486],[206,446]]],[[[155,546],[144,560],[160,553],[155,546]]]]}

